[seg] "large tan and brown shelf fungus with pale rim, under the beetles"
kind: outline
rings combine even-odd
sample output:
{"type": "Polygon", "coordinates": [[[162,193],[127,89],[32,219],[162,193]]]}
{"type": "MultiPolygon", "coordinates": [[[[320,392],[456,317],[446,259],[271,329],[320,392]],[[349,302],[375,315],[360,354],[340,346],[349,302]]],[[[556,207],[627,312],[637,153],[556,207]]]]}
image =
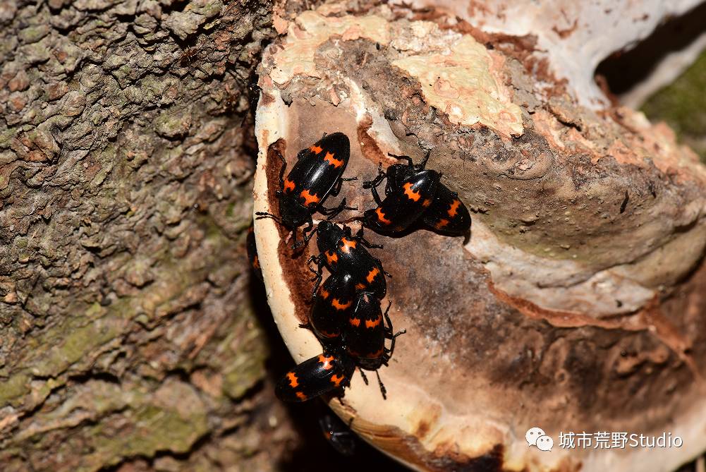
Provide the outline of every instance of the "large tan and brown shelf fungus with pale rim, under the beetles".
{"type": "MultiPolygon", "coordinates": [[[[397,162],[388,153],[429,152],[472,234],[366,231],[391,274],[383,307],[407,334],[379,370],[386,400],[356,372],[329,405],[419,471],[676,468],[706,449],[706,170],[666,126],[581,105],[533,54],[403,7],[292,18],[260,66],[255,211],[278,214],[278,153],[291,168],[324,133],[348,136],[344,177],[358,177],[328,198],[357,207],[335,221],[374,208],[362,182],[397,162]],[[551,450],[528,445],[533,427],[551,450]],[[681,447],[562,442],[571,432],[664,432],[681,447]]],[[[321,353],[300,327],[316,237],[293,251],[275,220],[255,226],[273,316],[302,362],[321,353]]]]}

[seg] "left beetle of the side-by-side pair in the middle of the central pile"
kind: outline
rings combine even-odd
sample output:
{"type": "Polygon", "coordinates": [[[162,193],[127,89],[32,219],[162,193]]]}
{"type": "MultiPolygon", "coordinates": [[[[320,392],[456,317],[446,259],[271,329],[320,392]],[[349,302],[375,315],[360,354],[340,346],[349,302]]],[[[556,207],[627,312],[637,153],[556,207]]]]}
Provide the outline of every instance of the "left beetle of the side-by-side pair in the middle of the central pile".
{"type": "Polygon", "coordinates": [[[333,274],[318,287],[309,312],[309,326],[322,343],[337,341],[353,306],[354,278],[333,274]]]}

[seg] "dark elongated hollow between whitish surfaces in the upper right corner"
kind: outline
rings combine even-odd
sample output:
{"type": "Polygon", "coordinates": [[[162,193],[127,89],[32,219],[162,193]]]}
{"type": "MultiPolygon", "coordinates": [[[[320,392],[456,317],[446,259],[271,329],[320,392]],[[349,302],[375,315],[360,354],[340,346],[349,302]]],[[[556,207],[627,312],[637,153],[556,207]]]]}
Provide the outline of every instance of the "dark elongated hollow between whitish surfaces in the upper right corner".
{"type": "Polygon", "coordinates": [[[706,33],[704,18],[706,2],[682,16],[664,21],[632,49],[614,52],[598,64],[595,75],[605,79],[611,93],[626,93],[649,77],[668,54],[685,49],[706,33]]]}

